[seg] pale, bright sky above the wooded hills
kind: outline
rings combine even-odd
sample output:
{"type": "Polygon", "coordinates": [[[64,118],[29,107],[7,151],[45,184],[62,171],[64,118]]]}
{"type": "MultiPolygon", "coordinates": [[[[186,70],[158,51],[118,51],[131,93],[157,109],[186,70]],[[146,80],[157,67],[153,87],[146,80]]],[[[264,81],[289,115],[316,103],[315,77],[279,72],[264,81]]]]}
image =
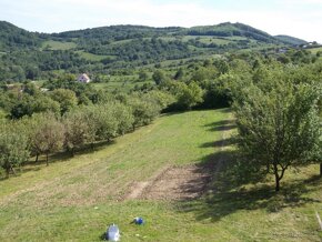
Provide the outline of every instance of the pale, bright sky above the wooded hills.
{"type": "Polygon", "coordinates": [[[322,43],[322,0],[0,0],[0,20],[47,33],[113,24],[242,22],[322,43]]]}

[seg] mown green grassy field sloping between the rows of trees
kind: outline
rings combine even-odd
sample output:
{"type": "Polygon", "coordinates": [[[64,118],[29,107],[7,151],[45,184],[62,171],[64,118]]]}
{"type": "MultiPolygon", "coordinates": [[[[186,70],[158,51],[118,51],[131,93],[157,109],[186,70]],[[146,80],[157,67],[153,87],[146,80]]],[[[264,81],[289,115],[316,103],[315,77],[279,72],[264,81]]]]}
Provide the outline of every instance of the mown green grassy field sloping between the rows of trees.
{"type": "Polygon", "coordinates": [[[121,241],[321,241],[318,167],[289,171],[276,195],[270,179],[254,185],[240,173],[232,133],[225,109],[169,114],[95,152],[29,165],[0,181],[0,241],[100,241],[113,222],[121,241]],[[122,199],[169,165],[219,160],[200,199],[122,199]],[[130,224],[138,215],[144,225],[130,224]]]}

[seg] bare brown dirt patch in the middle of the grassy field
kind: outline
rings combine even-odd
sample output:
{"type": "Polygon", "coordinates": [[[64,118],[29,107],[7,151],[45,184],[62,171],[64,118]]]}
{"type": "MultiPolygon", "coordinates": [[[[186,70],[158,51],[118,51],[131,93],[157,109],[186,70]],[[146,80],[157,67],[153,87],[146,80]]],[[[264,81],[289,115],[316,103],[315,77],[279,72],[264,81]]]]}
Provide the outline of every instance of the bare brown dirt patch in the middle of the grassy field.
{"type": "MultiPolygon", "coordinates": [[[[220,151],[225,150],[229,131],[223,129],[220,151]]],[[[221,154],[207,164],[170,167],[159,172],[150,181],[137,182],[131,185],[127,199],[147,200],[192,200],[208,191],[211,181],[217,179],[225,155],[221,154]]]]}

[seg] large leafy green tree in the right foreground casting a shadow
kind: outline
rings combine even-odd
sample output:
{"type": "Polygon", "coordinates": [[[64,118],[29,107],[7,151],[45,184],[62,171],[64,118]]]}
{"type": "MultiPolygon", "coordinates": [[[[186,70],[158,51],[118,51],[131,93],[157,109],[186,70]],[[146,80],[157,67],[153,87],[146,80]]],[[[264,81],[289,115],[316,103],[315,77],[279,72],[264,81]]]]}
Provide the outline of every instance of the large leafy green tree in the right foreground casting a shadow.
{"type": "Polygon", "coordinates": [[[319,155],[321,87],[294,83],[281,70],[240,90],[234,110],[239,148],[251,167],[265,167],[275,177],[275,190],[290,165],[319,155]]]}

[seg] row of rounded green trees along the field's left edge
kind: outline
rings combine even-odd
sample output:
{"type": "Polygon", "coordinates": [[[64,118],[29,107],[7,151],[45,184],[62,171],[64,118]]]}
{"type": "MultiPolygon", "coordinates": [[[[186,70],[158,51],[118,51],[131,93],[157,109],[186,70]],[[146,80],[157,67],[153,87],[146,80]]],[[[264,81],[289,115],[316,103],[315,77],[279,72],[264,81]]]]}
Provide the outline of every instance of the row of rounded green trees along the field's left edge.
{"type": "Polygon", "coordinates": [[[93,148],[147,125],[169,104],[161,92],[121,95],[99,104],[80,105],[62,115],[53,112],[33,113],[19,120],[1,120],[0,167],[9,177],[31,157],[93,148]]]}

